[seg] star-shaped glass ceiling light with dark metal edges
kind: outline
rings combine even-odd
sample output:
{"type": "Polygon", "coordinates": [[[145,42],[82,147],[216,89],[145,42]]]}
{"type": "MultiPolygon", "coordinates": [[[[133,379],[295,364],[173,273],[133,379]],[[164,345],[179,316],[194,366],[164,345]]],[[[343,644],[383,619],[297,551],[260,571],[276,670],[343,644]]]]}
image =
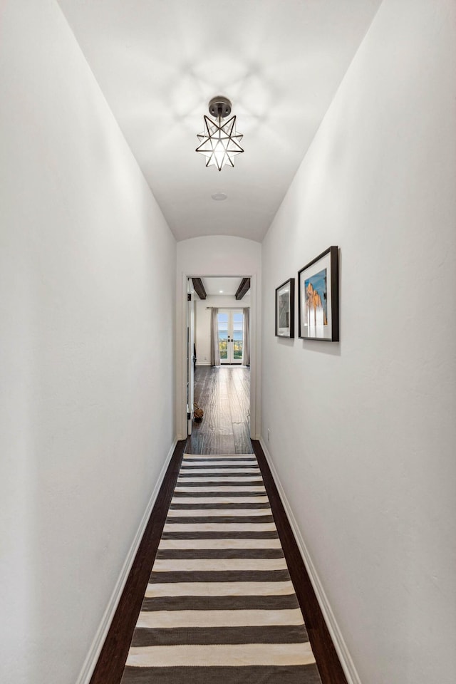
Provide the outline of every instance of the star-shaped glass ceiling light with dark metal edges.
{"type": "Polygon", "coordinates": [[[196,151],[206,157],[206,166],[217,166],[222,171],[224,165],[234,166],[233,159],[244,152],[239,142],[242,135],[236,133],[236,117],[223,120],[231,113],[231,102],[219,95],[209,102],[209,114],[217,121],[204,116],[204,132],[198,133],[200,141],[196,151]]]}

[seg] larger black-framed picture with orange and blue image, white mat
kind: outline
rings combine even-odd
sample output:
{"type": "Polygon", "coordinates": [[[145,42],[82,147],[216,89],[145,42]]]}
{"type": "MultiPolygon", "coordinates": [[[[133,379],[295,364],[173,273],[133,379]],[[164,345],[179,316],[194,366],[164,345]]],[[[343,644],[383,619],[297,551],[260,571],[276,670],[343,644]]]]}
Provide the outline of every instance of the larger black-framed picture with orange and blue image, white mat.
{"type": "Polygon", "coordinates": [[[298,299],[299,337],[338,342],[338,247],[329,247],[299,271],[298,299]]]}

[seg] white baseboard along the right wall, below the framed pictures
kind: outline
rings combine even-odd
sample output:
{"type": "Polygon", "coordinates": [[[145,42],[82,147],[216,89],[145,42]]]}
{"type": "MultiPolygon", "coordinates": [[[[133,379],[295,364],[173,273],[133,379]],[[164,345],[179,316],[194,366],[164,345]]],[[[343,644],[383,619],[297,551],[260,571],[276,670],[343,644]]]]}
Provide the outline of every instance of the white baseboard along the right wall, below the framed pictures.
{"type": "Polygon", "coordinates": [[[323,584],[321,584],[321,580],[318,577],[316,568],[309,554],[309,550],[307,549],[301,531],[299,530],[296,518],[294,517],[289,501],[286,498],[284,488],[281,485],[279,475],[277,475],[274,462],[271,459],[271,455],[269,454],[263,437],[260,437],[259,442],[264,451],[264,455],[266,456],[266,461],[268,462],[269,468],[271,469],[272,477],[274,477],[274,482],[276,483],[276,487],[279,491],[281,502],[284,504],[286,517],[289,519],[290,527],[293,531],[294,538],[296,539],[296,544],[298,544],[299,551],[301,552],[304,565],[306,566],[312,586],[314,587],[318,604],[321,608],[321,612],[323,613],[323,618],[326,622],[326,626],[328,627],[331,639],[333,640],[334,648],[336,648],[338,658],[341,661],[343,672],[346,675],[348,684],[361,684],[361,679],[359,678],[355,664],[353,663],[350,652],[348,651],[347,645],[343,639],[341,629],[336,621],[336,617],[334,616],[331,606],[329,605],[328,597],[323,589],[323,584]]]}

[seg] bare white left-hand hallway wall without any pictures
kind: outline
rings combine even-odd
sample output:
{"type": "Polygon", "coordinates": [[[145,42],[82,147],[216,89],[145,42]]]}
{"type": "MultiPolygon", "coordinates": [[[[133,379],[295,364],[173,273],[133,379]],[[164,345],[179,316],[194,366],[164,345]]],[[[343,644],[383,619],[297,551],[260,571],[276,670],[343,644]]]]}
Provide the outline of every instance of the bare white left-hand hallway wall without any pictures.
{"type": "Polygon", "coordinates": [[[0,680],[75,684],[175,437],[175,240],[58,4],[0,31],[0,680]]]}

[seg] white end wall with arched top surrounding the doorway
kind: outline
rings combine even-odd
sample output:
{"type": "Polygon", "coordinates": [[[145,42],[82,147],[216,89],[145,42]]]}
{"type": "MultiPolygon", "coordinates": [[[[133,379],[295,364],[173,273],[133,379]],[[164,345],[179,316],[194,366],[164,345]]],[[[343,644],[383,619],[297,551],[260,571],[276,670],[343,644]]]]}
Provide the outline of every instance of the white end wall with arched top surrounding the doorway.
{"type": "MultiPolygon", "coordinates": [[[[261,397],[261,244],[242,237],[213,235],[177,243],[177,367],[176,425],[180,438],[187,436],[186,309],[187,276],[252,276],[250,297],[250,415],[252,432],[259,437],[261,397]],[[258,296],[257,296],[258,293],[258,296]]],[[[198,316],[197,316],[198,318],[198,316]]]]}

